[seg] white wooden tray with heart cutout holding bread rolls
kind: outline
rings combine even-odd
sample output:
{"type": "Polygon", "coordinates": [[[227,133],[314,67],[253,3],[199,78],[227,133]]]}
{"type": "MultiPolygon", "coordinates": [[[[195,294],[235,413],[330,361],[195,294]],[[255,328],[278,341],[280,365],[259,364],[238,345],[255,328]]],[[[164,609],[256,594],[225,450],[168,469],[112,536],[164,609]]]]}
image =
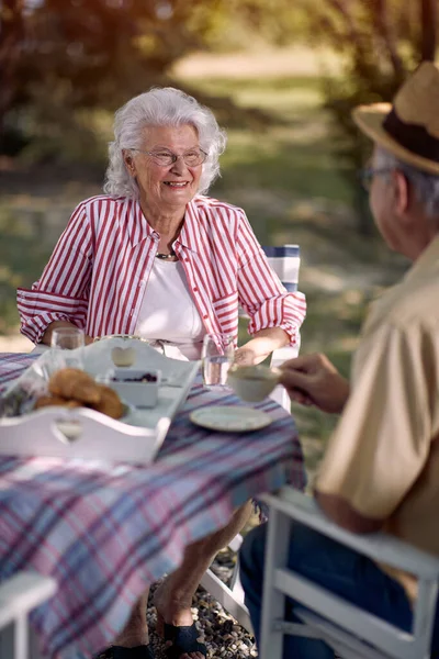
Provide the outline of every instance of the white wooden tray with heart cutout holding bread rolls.
{"type": "MultiPolygon", "coordinates": [[[[86,370],[102,375],[112,367],[111,349],[120,339],[106,339],[83,350],[86,370]]],[[[126,345],[126,344],[124,344],[126,345]]],[[[135,368],[159,369],[164,386],[153,409],[135,409],[123,421],[78,407],[47,407],[0,418],[0,454],[86,458],[92,460],[150,462],[159,450],[171,420],[184,403],[200,367],[158,354],[134,339],[135,368]]],[[[5,396],[19,390],[37,390],[53,365],[48,350],[12,384],[5,396]]]]}

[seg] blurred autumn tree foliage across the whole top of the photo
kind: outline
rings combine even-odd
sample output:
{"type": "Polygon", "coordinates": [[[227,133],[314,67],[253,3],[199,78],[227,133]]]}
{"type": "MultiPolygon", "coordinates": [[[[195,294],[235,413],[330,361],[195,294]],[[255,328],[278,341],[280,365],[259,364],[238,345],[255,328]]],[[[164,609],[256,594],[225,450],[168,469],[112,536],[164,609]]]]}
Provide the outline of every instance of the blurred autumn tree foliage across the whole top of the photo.
{"type": "MultiPolygon", "coordinates": [[[[113,110],[169,82],[173,63],[188,53],[306,35],[344,63],[336,79],[324,76],[324,91],[352,172],[367,147],[351,109],[390,100],[408,71],[435,58],[437,30],[437,0],[0,0],[0,153],[18,150],[23,135],[47,145],[70,136],[80,153],[81,139],[93,145],[90,127],[77,130],[83,110],[113,110]]],[[[221,118],[238,111],[230,100],[201,100],[221,118]]],[[[370,220],[360,217],[367,233],[370,220]]]]}

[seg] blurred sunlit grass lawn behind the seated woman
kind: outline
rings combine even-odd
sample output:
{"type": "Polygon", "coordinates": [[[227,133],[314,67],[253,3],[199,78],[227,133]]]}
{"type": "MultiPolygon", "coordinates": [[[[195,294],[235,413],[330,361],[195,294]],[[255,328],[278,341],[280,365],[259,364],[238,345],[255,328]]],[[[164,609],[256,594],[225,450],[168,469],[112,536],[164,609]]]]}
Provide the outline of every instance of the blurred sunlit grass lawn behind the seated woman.
{"type": "MultiPolygon", "coordinates": [[[[325,351],[348,376],[370,300],[394,282],[406,264],[376,236],[365,241],[357,233],[353,191],[322,108],[318,79],[206,76],[182,83],[203,98],[219,98],[218,118],[227,129],[228,146],[222,178],[211,193],[245,208],[262,244],[301,245],[300,288],[308,301],[302,353],[325,351]],[[235,115],[229,123],[223,121],[221,99],[230,98],[248,111],[245,120],[235,115]]],[[[102,113],[99,121],[104,134],[102,113]]],[[[42,194],[41,181],[25,176],[22,190],[15,181],[15,189],[3,194],[0,332],[16,326],[16,286],[30,286],[38,277],[69,212],[99,191],[101,177],[102,172],[95,185],[86,185],[85,177],[60,181],[54,171],[42,194]]],[[[336,420],[313,409],[294,406],[293,412],[314,469],[336,420]]]]}

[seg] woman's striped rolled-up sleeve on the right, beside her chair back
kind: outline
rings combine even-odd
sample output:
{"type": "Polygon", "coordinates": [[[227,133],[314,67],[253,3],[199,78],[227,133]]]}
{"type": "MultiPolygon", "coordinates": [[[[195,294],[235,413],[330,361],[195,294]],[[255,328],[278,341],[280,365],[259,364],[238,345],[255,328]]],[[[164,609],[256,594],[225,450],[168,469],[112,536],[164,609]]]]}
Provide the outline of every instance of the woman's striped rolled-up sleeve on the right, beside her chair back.
{"type": "Polygon", "coordinates": [[[250,316],[248,332],[280,327],[295,345],[305,319],[306,301],[301,292],[289,293],[270,268],[262,247],[243,212],[237,232],[238,295],[250,316]]]}

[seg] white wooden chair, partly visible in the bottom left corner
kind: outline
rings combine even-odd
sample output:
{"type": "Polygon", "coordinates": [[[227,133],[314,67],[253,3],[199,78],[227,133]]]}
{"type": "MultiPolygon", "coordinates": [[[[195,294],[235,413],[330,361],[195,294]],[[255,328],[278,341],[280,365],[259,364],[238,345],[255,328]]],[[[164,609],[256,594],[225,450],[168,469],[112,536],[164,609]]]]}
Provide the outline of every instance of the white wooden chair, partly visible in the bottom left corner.
{"type": "Polygon", "coordinates": [[[30,633],[30,612],[56,592],[54,579],[36,572],[18,572],[0,583],[1,659],[38,659],[35,638],[30,633]]]}

